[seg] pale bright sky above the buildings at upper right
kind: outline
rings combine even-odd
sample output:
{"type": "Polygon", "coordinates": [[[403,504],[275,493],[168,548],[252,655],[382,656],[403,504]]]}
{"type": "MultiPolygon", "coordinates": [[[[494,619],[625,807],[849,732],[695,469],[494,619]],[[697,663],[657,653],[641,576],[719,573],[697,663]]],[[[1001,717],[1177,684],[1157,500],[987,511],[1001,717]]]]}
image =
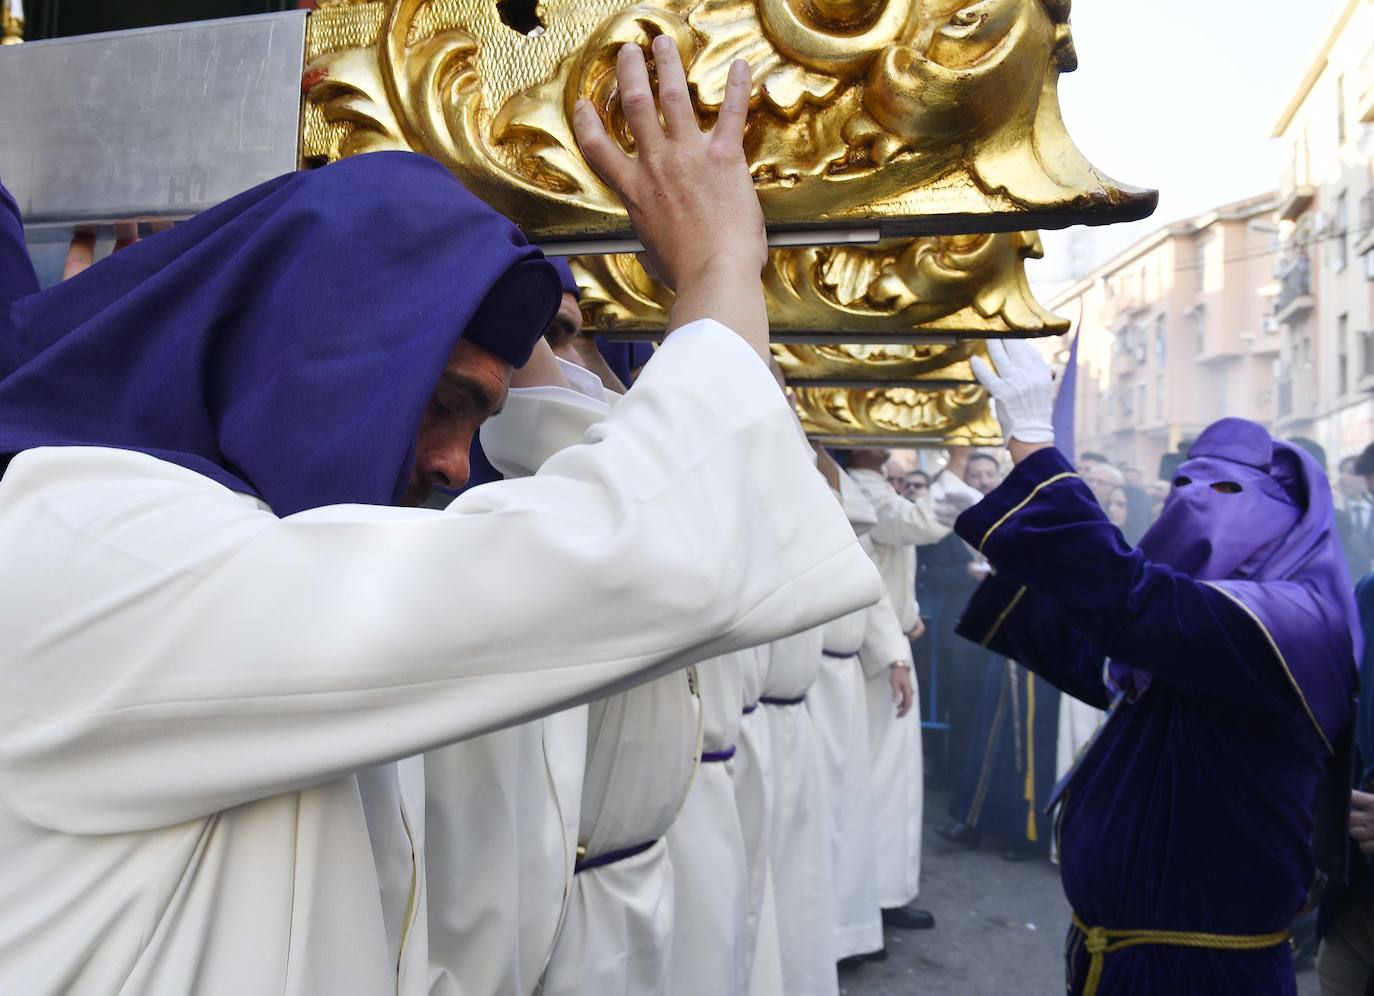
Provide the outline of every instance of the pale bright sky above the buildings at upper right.
{"type": "MultiPolygon", "coordinates": [[[[1090,267],[1161,225],[1276,188],[1270,139],[1344,0],[1076,0],[1079,69],[1059,80],[1079,148],[1121,183],[1160,191],[1146,221],[1091,232],[1090,267]]],[[[1044,299],[1069,275],[1066,232],[1028,273],[1044,299]]]]}

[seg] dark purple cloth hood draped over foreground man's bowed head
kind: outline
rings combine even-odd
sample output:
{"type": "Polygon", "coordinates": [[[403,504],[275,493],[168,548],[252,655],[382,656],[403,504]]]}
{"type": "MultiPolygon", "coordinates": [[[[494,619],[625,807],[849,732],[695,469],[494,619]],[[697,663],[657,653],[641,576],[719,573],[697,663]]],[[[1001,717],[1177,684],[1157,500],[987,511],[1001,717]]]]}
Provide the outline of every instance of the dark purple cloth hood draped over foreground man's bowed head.
{"type": "Polygon", "coordinates": [[[459,338],[523,364],[558,298],[433,159],[291,173],[15,301],[0,453],[140,451],[278,515],[394,504],[459,338]]]}

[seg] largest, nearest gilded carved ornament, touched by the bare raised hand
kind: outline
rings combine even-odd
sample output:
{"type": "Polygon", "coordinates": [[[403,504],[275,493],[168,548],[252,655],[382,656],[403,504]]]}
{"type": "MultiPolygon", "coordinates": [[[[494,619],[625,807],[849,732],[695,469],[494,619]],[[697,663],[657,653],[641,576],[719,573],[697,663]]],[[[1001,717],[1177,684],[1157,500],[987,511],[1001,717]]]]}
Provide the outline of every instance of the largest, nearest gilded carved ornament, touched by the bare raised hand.
{"type": "Polygon", "coordinates": [[[749,62],[746,152],[776,229],[1020,231],[1154,207],[1063,128],[1069,0],[326,0],[302,152],[427,152],[536,242],[625,238],[570,113],[588,98],[632,150],[616,52],[657,34],[677,41],[703,125],[749,62]]]}

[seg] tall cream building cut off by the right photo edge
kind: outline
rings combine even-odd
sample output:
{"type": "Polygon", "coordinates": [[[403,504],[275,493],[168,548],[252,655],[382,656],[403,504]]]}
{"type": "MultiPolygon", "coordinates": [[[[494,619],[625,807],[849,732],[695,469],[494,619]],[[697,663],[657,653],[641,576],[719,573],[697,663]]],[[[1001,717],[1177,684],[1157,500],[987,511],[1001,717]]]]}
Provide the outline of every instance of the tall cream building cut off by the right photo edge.
{"type": "Polygon", "coordinates": [[[1334,464],[1374,441],[1374,4],[1341,4],[1274,136],[1287,163],[1276,209],[1276,430],[1334,464]]]}

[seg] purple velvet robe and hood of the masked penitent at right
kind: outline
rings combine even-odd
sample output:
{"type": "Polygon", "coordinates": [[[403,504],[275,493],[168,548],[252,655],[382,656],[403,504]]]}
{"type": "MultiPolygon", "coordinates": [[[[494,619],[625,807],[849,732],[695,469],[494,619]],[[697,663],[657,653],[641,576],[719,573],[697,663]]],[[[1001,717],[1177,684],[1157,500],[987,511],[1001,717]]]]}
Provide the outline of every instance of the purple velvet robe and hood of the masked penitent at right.
{"type": "MultiPolygon", "coordinates": [[[[1270,444],[1238,419],[1204,433],[1140,550],[1055,449],[958,522],[996,569],[959,632],[1084,702],[1116,702],[1061,791],[1063,889],[1084,925],[1257,936],[1308,901],[1358,635],[1330,488],[1309,457],[1270,444]]],[[[1070,929],[1070,993],[1087,980],[1084,940],[1070,929]]],[[[1294,991],[1287,944],[1127,947],[1106,955],[1098,988],[1294,991]]]]}

